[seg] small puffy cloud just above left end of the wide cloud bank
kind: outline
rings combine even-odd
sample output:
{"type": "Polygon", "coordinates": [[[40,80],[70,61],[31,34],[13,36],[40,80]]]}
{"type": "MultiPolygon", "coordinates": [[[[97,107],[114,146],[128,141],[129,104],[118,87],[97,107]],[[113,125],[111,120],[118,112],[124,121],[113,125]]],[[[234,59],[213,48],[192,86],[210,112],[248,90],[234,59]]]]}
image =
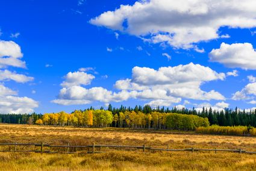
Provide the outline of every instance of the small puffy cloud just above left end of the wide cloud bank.
{"type": "Polygon", "coordinates": [[[69,72],[64,78],[66,80],[61,83],[61,86],[71,87],[73,85],[89,85],[95,76],[86,72],[69,72]]]}

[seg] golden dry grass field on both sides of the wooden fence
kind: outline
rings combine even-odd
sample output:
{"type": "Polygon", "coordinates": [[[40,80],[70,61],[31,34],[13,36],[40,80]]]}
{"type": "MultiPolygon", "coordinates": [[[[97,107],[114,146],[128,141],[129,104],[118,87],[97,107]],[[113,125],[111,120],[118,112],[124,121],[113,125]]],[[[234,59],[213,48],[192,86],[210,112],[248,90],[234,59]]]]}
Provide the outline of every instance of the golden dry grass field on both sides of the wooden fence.
{"type": "MultiPolygon", "coordinates": [[[[146,145],[256,151],[256,137],[118,128],[0,125],[0,143],[146,145]]],[[[104,149],[102,149],[104,151],[104,149]]],[[[256,170],[256,155],[232,152],[109,151],[102,154],[0,153],[0,170],[256,170]]]]}

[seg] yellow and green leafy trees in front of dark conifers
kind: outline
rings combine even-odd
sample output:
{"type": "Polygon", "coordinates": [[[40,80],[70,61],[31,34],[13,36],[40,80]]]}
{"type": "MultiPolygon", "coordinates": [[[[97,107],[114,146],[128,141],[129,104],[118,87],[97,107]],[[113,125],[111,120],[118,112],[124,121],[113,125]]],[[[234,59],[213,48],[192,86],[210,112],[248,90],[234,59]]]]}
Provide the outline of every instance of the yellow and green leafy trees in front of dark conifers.
{"type": "Polygon", "coordinates": [[[45,113],[42,119],[35,122],[38,125],[68,125],[83,127],[119,127],[134,129],[176,129],[195,130],[199,126],[209,126],[207,118],[195,115],[160,113],[142,113],[138,111],[120,111],[113,114],[108,110],[76,110],[68,114],[64,111],[60,113],[45,113]]]}

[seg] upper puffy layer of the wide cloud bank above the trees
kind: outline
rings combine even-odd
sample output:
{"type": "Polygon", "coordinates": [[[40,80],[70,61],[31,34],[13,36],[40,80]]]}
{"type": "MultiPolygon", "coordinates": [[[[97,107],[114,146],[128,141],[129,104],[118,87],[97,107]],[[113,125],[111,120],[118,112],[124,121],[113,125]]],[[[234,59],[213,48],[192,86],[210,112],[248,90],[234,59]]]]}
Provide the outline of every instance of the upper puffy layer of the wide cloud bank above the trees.
{"type": "Polygon", "coordinates": [[[158,70],[148,67],[133,68],[133,81],[143,85],[181,84],[217,79],[225,79],[225,73],[217,73],[210,67],[193,63],[175,67],[160,67],[158,70]]]}

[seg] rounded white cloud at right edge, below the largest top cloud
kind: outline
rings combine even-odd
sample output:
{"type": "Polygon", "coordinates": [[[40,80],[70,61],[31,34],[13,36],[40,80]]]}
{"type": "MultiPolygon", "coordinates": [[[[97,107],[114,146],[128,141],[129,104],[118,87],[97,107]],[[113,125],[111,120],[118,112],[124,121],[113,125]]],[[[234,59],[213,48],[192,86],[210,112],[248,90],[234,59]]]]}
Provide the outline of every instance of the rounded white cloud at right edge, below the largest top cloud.
{"type": "Polygon", "coordinates": [[[256,69],[256,52],[251,43],[222,43],[219,49],[213,49],[210,61],[224,64],[226,67],[240,67],[242,69],[256,69]]]}

